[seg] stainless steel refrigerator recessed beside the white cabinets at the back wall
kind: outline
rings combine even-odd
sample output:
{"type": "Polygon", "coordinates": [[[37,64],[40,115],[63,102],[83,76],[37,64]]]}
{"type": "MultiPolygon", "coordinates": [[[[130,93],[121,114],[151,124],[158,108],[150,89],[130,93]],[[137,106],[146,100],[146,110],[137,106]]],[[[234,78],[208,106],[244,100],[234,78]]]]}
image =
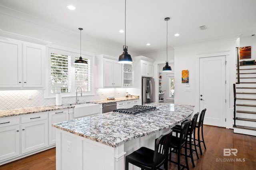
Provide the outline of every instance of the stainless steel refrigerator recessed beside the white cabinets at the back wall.
{"type": "Polygon", "coordinates": [[[142,105],[154,102],[154,79],[142,77],[142,105]]]}

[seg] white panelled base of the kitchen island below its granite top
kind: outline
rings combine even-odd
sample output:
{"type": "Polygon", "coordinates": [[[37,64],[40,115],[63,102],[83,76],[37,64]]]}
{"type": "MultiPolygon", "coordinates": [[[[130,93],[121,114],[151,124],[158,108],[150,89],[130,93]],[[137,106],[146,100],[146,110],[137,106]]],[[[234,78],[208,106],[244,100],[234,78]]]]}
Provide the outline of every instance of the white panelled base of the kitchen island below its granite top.
{"type": "Polygon", "coordinates": [[[56,128],[57,170],[122,170],[124,144],[111,147],[56,128]]]}

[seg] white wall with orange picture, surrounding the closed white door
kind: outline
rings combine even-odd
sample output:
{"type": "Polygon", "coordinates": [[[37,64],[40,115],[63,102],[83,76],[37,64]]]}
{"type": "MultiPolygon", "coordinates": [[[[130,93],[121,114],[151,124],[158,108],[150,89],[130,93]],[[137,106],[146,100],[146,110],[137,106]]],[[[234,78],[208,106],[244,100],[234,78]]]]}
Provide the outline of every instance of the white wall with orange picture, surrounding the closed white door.
{"type": "MultiPolygon", "coordinates": [[[[227,40],[215,40],[212,42],[202,42],[196,43],[193,45],[186,45],[184,47],[176,47],[175,48],[175,103],[176,104],[186,104],[186,105],[194,105],[194,113],[200,112],[199,110],[199,87],[196,86],[196,82],[199,79],[199,75],[196,75],[196,66],[199,63],[196,63],[198,60],[198,55],[202,54],[210,54],[210,53],[229,53],[230,57],[227,58],[227,88],[226,90],[226,98],[227,106],[226,106],[226,118],[227,118],[227,127],[232,127],[232,113],[233,113],[233,105],[231,104],[233,101],[233,89],[232,84],[235,83],[235,75],[236,75],[236,67],[235,67],[235,47],[236,47],[236,38],[230,37],[227,40]],[[181,82],[181,71],[184,69],[189,70],[189,85],[191,92],[185,92],[186,87],[185,83],[181,82]],[[179,81],[180,80],[180,81],[179,81]],[[198,101],[197,101],[198,100],[198,101]]],[[[207,73],[205,73],[207,74],[207,73]]]]}

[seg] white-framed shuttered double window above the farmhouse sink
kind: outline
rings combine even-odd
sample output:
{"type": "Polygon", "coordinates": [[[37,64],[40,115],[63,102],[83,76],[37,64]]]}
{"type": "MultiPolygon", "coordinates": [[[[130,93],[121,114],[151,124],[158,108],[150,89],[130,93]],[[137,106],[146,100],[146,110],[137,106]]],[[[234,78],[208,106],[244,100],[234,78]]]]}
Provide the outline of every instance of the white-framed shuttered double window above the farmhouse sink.
{"type": "Polygon", "coordinates": [[[63,97],[76,95],[76,88],[81,87],[83,95],[92,91],[92,56],[82,55],[87,65],[74,65],[80,54],[58,49],[49,49],[49,85],[46,97],[55,97],[61,93],[63,97]],[[47,94],[48,93],[48,94],[47,94]]]}

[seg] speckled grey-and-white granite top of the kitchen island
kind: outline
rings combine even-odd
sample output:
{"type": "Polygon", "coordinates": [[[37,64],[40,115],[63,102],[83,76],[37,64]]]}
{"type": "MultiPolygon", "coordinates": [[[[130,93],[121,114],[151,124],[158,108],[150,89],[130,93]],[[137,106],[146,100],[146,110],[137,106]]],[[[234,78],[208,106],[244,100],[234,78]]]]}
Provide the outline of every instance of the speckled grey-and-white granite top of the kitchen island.
{"type": "Polygon", "coordinates": [[[139,116],[109,112],[56,123],[52,126],[108,146],[117,147],[128,140],[173,127],[189,117],[194,110],[194,106],[190,105],[167,103],[148,105],[159,110],[139,116]]]}

